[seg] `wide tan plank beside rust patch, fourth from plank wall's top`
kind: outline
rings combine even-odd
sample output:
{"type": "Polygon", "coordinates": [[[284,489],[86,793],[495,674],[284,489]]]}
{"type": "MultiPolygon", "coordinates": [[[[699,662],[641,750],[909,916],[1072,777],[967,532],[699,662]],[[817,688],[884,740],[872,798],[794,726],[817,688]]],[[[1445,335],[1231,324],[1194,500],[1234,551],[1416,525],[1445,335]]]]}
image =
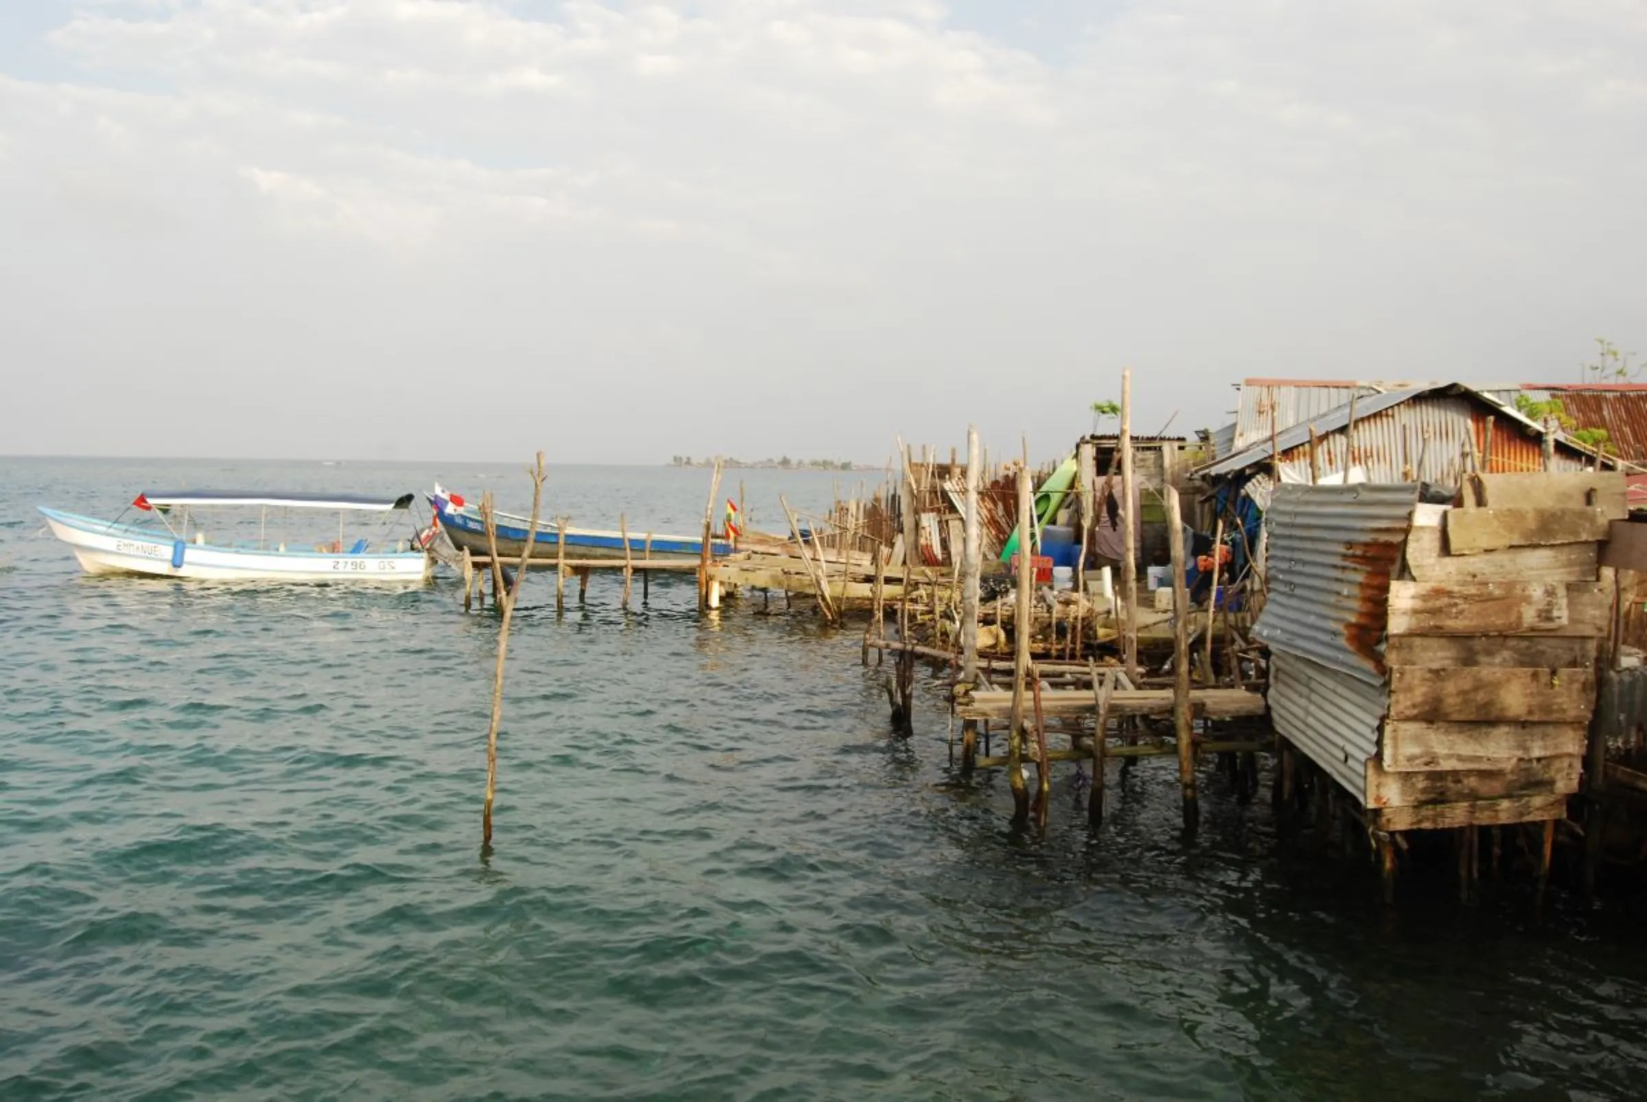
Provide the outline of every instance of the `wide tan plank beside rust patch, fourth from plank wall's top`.
{"type": "Polygon", "coordinates": [[[1390,583],[1390,636],[1603,636],[1611,596],[1594,581],[1390,583]]]}

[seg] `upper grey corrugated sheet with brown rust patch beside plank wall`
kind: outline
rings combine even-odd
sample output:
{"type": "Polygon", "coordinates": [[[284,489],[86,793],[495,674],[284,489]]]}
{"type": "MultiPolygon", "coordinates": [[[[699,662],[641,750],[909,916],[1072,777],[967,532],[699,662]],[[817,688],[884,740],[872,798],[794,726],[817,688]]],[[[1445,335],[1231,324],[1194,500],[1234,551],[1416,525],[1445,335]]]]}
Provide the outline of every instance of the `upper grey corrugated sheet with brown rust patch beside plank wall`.
{"type": "Polygon", "coordinates": [[[1383,682],[1390,578],[1418,488],[1281,486],[1265,514],[1268,598],[1253,631],[1271,651],[1383,682]]]}

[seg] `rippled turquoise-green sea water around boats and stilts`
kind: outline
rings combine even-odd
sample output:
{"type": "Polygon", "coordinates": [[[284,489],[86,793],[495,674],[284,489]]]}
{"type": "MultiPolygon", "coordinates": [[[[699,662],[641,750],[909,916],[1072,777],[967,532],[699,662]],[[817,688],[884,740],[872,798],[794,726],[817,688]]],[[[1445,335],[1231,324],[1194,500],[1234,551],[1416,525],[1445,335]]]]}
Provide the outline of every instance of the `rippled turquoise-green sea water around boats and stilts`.
{"type": "MultiPolygon", "coordinates": [[[[856,633],[529,577],[479,855],[496,624],[413,591],[99,580],[36,504],[145,486],[524,506],[519,468],[7,460],[3,1099],[1611,1099],[1640,916],[1461,908],[1276,837],[1209,774],[1071,776],[1044,840],[886,736],[856,633]]],[[[733,476],[736,478],[736,474],[733,476]]],[[[744,473],[751,521],[833,476],[744,473]]],[[[731,483],[736,486],[736,483],[731,483]]],[[[553,469],[575,522],[692,530],[707,474],[553,469]]]]}

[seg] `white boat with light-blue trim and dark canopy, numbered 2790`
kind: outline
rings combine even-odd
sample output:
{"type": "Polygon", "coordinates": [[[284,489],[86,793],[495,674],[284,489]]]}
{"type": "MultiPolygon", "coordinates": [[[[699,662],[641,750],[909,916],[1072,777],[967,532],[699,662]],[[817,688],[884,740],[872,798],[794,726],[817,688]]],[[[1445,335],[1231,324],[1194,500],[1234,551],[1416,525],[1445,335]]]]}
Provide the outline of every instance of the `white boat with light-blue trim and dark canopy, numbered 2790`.
{"type": "MultiPolygon", "coordinates": [[[[142,493],[125,511],[138,511],[133,522],[122,522],[40,507],[53,535],[69,545],[86,573],[135,573],[161,578],[216,578],[226,581],[425,581],[433,560],[422,550],[413,529],[395,539],[387,525],[366,535],[348,530],[357,514],[395,514],[410,519],[413,494],[361,497],[354,494],[282,494],[265,491],[153,491],[142,493]],[[199,511],[257,509],[239,517],[214,516],[217,539],[208,539],[199,511]],[[313,516],[338,512],[336,539],[301,544],[278,535],[287,511],[313,516]],[[270,535],[270,514],[277,535],[270,535]],[[221,527],[219,527],[221,525],[221,527]],[[226,539],[222,534],[231,537],[226,539]],[[255,535],[255,539],[252,539],[255,535]]],[[[359,524],[356,525],[359,527],[359,524]]],[[[329,530],[326,534],[329,537],[329,530]]]]}

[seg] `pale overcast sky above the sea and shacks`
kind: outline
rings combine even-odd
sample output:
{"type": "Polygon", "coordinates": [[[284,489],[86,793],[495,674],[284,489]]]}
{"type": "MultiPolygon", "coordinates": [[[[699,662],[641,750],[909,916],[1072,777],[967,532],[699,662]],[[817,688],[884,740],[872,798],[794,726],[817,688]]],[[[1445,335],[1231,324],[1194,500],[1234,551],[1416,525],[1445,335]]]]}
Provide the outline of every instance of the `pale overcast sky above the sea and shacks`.
{"type": "Polygon", "coordinates": [[[0,455],[1052,456],[1647,349],[1639,0],[0,0],[0,455]],[[1113,425],[1113,422],[1108,422],[1113,425]]]}

